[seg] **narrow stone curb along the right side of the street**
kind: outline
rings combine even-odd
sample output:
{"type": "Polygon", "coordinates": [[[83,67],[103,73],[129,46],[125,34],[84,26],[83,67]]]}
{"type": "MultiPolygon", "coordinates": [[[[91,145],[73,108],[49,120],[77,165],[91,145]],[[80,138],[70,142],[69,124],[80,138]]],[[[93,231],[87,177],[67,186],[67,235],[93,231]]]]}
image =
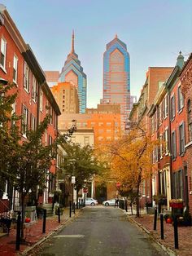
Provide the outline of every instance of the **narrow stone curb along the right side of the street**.
{"type": "Polygon", "coordinates": [[[172,249],[162,245],[159,241],[157,241],[155,236],[153,236],[153,233],[151,233],[149,230],[147,230],[146,227],[143,227],[142,224],[137,223],[136,220],[134,220],[133,218],[129,217],[129,214],[126,214],[126,211],[123,210],[123,212],[124,212],[125,215],[127,215],[127,218],[129,220],[129,222],[136,224],[137,227],[140,227],[144,232],[146,232],[146,234],[151,237],[151,240],[154,241],[157,245],[159,245],[162,249],[164,249],[164,251],[166,253],[168,253],[168,255],[170,255],[170,256],[177,255],[176,252],[174,252],[172,249]]]}

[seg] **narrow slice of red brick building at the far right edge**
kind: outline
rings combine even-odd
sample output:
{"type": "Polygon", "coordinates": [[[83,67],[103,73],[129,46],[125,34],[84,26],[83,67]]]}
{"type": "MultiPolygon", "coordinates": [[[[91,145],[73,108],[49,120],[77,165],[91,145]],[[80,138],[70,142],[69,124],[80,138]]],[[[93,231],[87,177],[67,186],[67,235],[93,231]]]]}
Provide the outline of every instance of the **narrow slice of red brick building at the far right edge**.
{"type": "Polygon", "coordinates": [[[192,54],[181,70],[180,79],[185,104],[185,183],[188,185],[186,200],[189,201],[192,214],[192,54]]]}

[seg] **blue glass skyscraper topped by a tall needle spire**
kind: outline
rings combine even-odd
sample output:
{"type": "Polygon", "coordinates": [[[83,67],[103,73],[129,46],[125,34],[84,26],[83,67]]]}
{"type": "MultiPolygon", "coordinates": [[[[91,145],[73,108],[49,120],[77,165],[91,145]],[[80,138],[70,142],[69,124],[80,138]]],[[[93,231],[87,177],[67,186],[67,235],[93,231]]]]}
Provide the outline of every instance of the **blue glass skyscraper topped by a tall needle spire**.
{"type": "Polygon", "coordinates": [[[62,68],[59,82],[72,82],[76,86],[79,96],[80,113],[85,113],[87,78],[81,67],[81,62],[74,48],[74,32],[72,32],[72,51],[62,68]]]}

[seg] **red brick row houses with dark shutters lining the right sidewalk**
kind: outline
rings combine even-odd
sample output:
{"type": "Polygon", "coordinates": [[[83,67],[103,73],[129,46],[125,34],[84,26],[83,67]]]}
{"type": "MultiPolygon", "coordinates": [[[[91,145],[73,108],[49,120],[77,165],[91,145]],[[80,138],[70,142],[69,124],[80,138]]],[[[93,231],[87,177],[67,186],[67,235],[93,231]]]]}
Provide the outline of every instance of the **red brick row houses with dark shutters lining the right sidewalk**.
{"type": "MultiPolygon", "coordinates": [[[[146,109],[151,140],[158,140],[151,161],[151,196],[167,201],[182,199],[192,212],[191,192],[191,55],[185,63],[181,53],[167,79],[158,86],[155,97],[146,109]]],[[[143,93],[143,90],[142,90],[143,93]]],[[[140,96],[141,100],[142,95],[140,96]]],[[[133,104],[131,121],[139,122],[139,105],[133,104]]],[[[141,191],[143,189],[141,188],[141,191]]],[[[144,193],[145,191],[143,191],[144,193]]],[[[149,196],[149,195],[148,195],[149,196]]],[[[149,196],[150,197],[150,196],[149,196]]],[[[153,205],[155,205],[155,202],[153,205]]]]}

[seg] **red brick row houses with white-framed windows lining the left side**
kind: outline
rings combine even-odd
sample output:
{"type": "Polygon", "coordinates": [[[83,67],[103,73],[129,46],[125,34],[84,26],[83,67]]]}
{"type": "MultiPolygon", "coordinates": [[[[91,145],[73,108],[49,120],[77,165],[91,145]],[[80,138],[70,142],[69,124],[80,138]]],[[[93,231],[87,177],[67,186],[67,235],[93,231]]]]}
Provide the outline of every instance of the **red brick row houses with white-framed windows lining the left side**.
{"type": "MultiPolygon", "coordinates": [[[[46,135],[44,135],[43,143],[52,143],[58,135],[59,106],[46,83],[45,74],[33,51],[24,42],[6,7],[2,4],[0,5],[0,49],[0,80],[1,82],[13,82],[16,85],[16,88],[12,89],[10,93],[15,91],[18,93],[12,107],[13,112],[18,116],[22,115],[22,121],[19,124],[22,139],[26,139],[28,129],[36,129],[49,111],[52,118],[46,135]],[[49,110],[46,106],[49,107],[49,110]]],[[[49,201],[49,192],[55,188],[55,171],[56,163],[53,160],[42,202],[49,201]]],[[[14,210],[15,206],[19,204],[18,193],[8,185],[7,183],[0,201],[2,210],[5,210],[5,205],[14,210]]]]}

